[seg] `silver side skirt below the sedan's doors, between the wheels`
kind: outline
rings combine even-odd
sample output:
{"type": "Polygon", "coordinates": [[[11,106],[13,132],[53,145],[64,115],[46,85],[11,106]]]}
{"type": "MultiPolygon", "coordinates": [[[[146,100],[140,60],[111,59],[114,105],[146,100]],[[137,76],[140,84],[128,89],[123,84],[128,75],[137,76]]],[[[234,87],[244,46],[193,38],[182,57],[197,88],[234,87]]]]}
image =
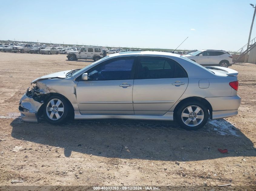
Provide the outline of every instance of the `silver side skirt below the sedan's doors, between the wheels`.
{"type": "Polygon", "coordinates": [[[102,115],[81,114],[79,111],[75,111],[75,119],[138,119],[173,121],[173,112],[167,112],[164,115],[102,115]]]}

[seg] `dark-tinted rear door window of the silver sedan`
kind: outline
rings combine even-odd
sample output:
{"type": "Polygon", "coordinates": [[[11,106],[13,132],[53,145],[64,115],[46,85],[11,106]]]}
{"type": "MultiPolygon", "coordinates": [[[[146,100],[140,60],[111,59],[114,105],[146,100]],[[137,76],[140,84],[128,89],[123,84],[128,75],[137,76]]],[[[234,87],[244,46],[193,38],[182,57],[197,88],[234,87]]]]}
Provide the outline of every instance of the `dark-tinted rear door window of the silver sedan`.
{"type": "Polygon", "coordinates": [[[139,58],[135,79],[187,78],[181,66],[170,59],[139,58]]]}

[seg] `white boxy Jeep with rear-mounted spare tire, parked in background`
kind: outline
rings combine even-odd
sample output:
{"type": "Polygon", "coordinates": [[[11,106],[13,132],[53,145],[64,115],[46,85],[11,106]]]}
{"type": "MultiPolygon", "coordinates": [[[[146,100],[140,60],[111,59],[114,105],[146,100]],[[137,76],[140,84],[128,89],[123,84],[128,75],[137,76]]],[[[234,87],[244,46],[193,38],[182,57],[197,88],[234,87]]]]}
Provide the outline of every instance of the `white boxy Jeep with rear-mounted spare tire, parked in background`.
{"type": "Polygon", "coordinates": [[[92,59],[98,61],[103,58],[103,52],[101,47],[84,46],[77,51],[70,51],[67,58],[70,61],[78,59],[92,59]]]}

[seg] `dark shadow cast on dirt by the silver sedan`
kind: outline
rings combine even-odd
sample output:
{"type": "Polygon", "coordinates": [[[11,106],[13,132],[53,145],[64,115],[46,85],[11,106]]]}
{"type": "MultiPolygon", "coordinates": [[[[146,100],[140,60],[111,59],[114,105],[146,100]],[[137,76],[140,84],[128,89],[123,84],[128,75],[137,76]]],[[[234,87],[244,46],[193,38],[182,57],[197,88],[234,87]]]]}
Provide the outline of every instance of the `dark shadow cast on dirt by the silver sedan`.
{"type": "Polygon", "coordinates": [[[35,124],[16,118],[11,126],[13,138],[64,148],[66,157],[72,151],[163,161],[256,156],[254,144],[240,130],[224,119],[215,120],[214,123],[230,125],[228,128],[233,132],[224,131],[227,133],[223,135],[212,121],[197,131],[180,129],[175,122],[124,119],[75,120],[51,125],[44,119],[35,124]],[[229,151],[222,154],[218,148],[229,151]]]}

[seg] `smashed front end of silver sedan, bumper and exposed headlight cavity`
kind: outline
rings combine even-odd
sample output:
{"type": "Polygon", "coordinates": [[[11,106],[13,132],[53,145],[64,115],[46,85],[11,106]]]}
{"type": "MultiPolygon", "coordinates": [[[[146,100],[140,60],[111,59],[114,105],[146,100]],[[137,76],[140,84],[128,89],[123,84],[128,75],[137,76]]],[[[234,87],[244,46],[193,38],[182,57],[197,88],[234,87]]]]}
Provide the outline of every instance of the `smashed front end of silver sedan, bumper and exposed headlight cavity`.
{"type": "MultiPolygon", "coordinates": [[[[44,103],[45,93],[35,86],[22,96],[19,103],[21,118],[25,122],[38,123],[38,113],[44,103]]],[[[40,114],[40,113],[39,113],[40,114]]]]}

